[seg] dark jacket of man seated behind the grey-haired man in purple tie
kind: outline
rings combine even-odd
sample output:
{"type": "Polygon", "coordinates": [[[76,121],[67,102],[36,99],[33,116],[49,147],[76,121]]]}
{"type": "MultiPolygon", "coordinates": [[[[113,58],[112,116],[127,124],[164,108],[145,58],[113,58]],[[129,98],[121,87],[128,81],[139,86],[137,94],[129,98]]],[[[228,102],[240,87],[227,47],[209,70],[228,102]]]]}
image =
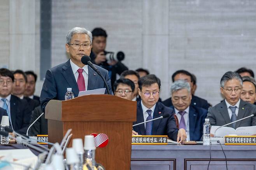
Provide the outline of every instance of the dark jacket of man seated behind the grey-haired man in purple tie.
{"type": "MultiPolygon", "coordinates": [[[[172,99],[171,97],[166,99],[165,101],[162,102],[165,106],[170,107],[172,106],[172,99]]],[[[210,107],[209,103],[205,100],[202,99],[200,97],[197,97],[195,95],[192,95],[192,99],[191,99],[191,104],[190,106],[196,106],[198,108],[204,108],[206,110],[208,110],[208,108],[210,107]]]]}

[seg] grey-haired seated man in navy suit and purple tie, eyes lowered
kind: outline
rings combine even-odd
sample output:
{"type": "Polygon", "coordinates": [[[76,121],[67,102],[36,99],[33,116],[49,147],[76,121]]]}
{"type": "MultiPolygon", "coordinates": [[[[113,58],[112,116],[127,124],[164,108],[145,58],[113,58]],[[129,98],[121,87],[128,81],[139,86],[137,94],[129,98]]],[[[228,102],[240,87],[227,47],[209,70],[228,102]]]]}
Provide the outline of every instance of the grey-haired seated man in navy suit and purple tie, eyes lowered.
{"type": "Polygon", "coordinates": [[[172,109],[179,119],[179,128],[184,128],[187,133],[187,141],[200,141],[203,132],[203,123],[207,116],[207,110],[196,106],[189,106],[192,95],[188,82],[177,80],[171,86],[172,109]]]}

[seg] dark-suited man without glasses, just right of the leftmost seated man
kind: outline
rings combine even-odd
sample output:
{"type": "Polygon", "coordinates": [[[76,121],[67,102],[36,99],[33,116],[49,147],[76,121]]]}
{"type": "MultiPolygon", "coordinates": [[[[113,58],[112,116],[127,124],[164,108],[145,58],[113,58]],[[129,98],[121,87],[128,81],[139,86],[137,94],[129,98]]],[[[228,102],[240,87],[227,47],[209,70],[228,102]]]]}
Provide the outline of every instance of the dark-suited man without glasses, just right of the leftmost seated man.
{"type": "Polygon", "coordinates": [[[16,95],[20,99],[26,100],[28,102],[28,107],[31,111],[33,111],[37,106],[40,105],[40,102],[24,96],[27,84],[26,74],[21,70],[16,70],[14,71],[13,75],[14,82],[12,84],[12,94],[16,95]]]}

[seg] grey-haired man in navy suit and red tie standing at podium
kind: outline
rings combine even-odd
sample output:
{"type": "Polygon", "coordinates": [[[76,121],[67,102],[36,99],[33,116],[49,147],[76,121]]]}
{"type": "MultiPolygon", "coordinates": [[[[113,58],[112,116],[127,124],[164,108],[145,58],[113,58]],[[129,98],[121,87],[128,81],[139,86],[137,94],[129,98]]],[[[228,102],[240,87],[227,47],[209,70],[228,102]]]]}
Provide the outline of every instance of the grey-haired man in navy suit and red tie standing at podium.
{"type": "MultiPolygon", "coordinates": [[[[65,100],[67,88],[72,88],[75,97],[78,96],[79,91],[107,88],[96,71],[81,62],[82,56],[90,55],[92,38],[91,32],[85,28],[75,27],[68,31],[66,51],[70,55],[70,59],[46,71],[46,78],[40,95],[43,112],[51,99],[65,100]]],[[[112,94],[108,71],[100,66],[94,66],[106,79],[112,94]]],[[[107,89],[105,94],[107,94],[107,89]]]]}

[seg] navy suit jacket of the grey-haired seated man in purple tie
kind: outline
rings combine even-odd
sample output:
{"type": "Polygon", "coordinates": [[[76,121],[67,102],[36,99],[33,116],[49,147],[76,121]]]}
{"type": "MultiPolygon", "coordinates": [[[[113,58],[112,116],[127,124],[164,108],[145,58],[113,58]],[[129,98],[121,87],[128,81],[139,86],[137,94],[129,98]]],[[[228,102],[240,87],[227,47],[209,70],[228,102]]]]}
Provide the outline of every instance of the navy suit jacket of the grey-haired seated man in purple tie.
{"type": "MultiPolygon", "coordinates": [[[[171,106],[174,109],[174,106],[171,106]]],[[[189,106],[189,137],[190,141],[201,141],[203,135],[203,123],[207,116],[207,110],[195,106],[189,106]]]]}

